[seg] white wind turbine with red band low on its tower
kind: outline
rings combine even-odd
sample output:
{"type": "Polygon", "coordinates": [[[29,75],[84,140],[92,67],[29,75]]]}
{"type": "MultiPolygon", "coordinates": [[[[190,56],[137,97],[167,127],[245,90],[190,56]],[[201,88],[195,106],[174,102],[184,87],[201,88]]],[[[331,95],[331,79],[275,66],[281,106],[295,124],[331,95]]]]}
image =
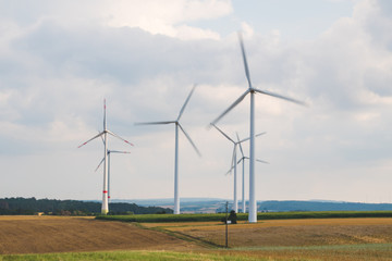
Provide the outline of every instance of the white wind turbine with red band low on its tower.
{"type": "Polygon", "coordinates": [[[121,139],[122,141],[133,146],[133,144],[131,144],[130,141],[123,139],[122,137],[120,137],[119,135],[112,133],[111,130],[109,130],[107,128],[106,100],[103,100],[103,130],[77,147],[77,148],[81,148],[82,146],[85,146],[86,144],[88,144],[89,141],[91,141],[93,139],[96,139],[98,137],[102,137],[102,139],[103,139],[103,145],[105,145],[103,146],[105,147],[105,150],[103,150],[103,163],[105,164],[103,164],[103,191],[102,191],[102,208],[101,208],[101,213],[102,214],[108,214],[108,212],[109,212],[109,202],[108,202],[108,134],[110,134],[111,136],[117,137],[118,139],[121,139]]]}

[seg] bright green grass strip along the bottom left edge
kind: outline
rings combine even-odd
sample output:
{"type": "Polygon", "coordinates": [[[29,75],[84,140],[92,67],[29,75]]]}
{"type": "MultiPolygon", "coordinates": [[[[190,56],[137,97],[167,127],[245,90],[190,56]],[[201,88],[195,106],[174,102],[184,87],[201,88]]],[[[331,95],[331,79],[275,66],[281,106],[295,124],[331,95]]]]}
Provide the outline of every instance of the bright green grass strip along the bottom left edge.
{"type": "MultiPolygon", "coordinates": [[[[70,252],[70,253],[41,253],[41,254],[4,254],[0,256],[0,261],[107,261],[107,260],[194,260],[194,261],[250,261],[260,260],[241,256],[221,256],[216,253],[192,253],[172,251],[112,251],[112,252],[70,252]]],[[[270,259],[261,259],[270,260],[270,259]]]]}

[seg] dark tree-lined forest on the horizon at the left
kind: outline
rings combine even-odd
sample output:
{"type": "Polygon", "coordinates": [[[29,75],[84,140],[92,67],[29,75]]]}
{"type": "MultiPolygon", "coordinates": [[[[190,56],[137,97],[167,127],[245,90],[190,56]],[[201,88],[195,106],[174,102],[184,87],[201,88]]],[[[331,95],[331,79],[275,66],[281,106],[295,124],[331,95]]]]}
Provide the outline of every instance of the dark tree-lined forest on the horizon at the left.
{"type": "MultiPolygon", "coordinates": [[[[155,214],[173,213],[160,207],[140,207],[135,203],[109,203],[109,214],[155,214]]],[[[32,215],[44,212],[50,215],[96,215],[101,203],[79,200],[57,200],[36,198],[0,198],[0,215],[32,215]]]]}

